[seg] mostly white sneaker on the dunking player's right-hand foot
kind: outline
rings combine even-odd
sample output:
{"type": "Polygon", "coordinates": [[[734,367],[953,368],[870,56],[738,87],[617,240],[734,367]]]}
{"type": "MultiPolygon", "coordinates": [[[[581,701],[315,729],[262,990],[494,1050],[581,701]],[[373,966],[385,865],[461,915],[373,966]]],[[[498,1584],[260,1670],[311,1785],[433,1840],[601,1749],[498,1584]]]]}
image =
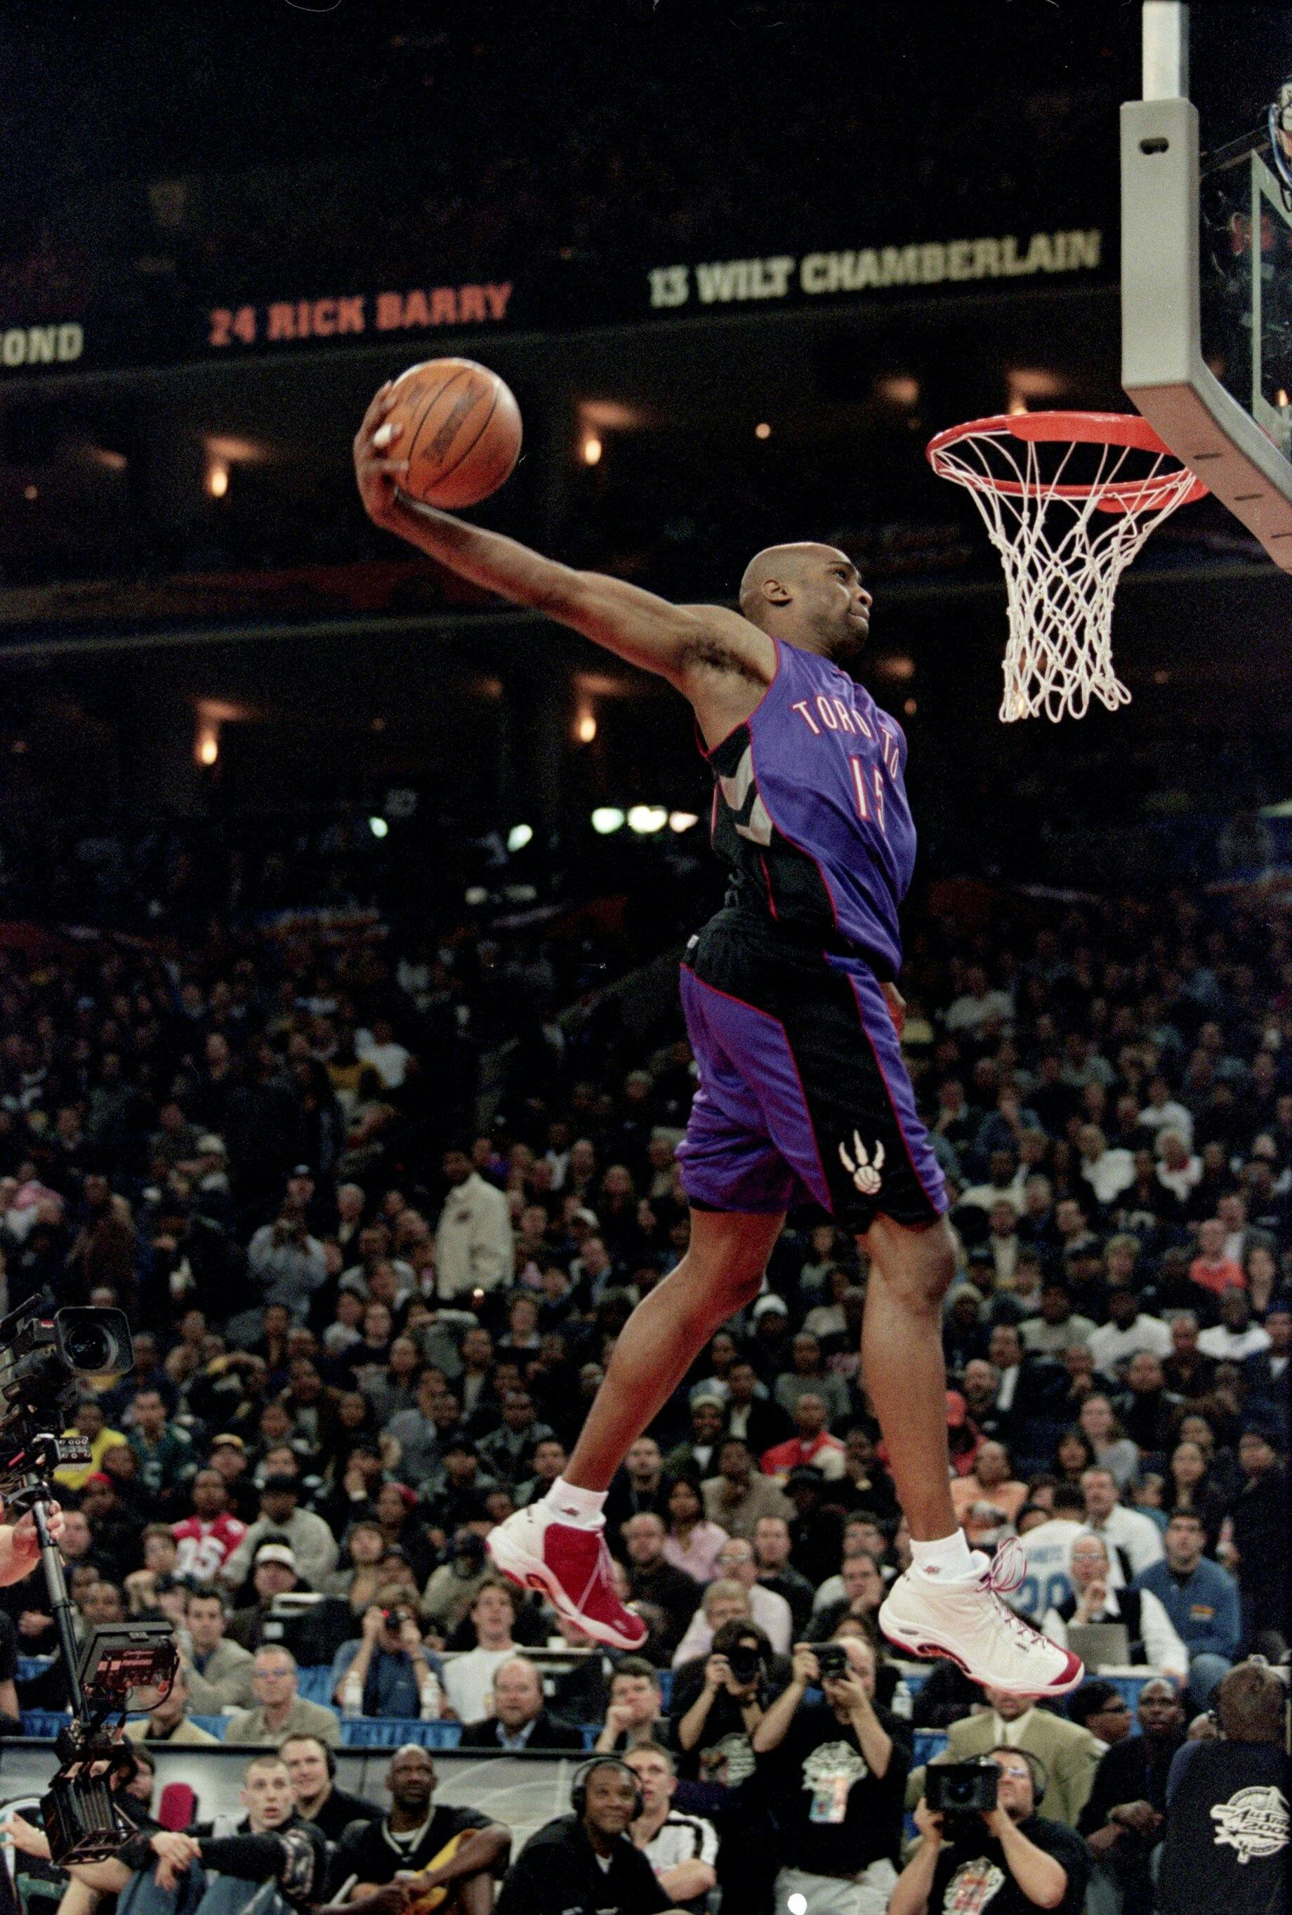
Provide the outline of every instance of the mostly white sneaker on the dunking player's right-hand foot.
{"type": "Polygon", "coordinates": [[[911,1656],[946,1656],[972,1681],[1009,1695],[1066,1695],[1085,1670],[1047,1635],[1030,1628],[1001,1591],[1016,1589],[1026,1574],[1022,1547],[1011,1538],[988,1561],[972,1553],[976,1576],[936,1582],[909,1568],[898,1576],[879,1609],[879,1626],[911,1656]]]}

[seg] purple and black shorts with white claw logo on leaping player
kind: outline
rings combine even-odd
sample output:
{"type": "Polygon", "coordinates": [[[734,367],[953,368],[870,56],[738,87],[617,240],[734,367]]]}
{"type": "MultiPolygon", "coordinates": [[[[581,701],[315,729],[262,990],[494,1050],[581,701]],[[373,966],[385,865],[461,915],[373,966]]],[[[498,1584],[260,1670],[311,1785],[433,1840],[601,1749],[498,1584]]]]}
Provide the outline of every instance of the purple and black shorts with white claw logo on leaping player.
{"type": "Polygon", "coordinates": [[[880,980],[859,956],[720,913],[691,938],[681,1007],[699,1069],[681,1183],[704,1210],[819,1203],[840,1229],[932,1224],[947,1193],[880,980]]]}

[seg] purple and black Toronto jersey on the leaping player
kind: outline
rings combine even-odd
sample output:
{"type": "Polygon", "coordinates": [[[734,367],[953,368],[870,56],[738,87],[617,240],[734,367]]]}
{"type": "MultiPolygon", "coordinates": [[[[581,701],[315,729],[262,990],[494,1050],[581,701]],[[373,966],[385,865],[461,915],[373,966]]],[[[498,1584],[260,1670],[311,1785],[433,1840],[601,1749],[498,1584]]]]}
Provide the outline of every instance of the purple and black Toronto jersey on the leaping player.
{"type": "Polygon", "coordinates": [[[704,753],[714,850],[733,877],[727,904],[823,948],[858,950],[896,979],[898,906],[915,869],[905,735],[829,659],[773,643],[762,701],[704,753]]]}

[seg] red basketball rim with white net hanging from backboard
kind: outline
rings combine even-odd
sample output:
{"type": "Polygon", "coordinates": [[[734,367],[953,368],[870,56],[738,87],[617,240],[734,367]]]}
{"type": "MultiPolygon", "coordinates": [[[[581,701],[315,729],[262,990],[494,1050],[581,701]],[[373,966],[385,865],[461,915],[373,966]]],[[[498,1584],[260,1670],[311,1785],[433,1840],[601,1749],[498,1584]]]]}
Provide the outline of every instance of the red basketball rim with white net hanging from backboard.
{"type": "Polygon", "coordinates": [[[1001,720],[1083,718],[1129,703],[1112,668],[1118,578],[1168,513],[1206,486],[1137,412],[1020,412],[951,425],[928,463],[972,494],[1005,563],[1001,720]]]}

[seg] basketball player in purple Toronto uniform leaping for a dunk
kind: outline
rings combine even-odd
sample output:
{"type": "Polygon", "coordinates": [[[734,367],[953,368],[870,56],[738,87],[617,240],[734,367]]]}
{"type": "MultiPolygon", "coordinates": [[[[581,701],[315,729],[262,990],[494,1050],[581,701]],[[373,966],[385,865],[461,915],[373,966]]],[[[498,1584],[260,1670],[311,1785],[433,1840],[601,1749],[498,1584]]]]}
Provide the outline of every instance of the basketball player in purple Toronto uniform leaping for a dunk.
{"type": "Polygon", "coordinates": [[[871,594],[842,552],[815,544],[750,559],[739,613],[572,571],[406,500],[389,408],[383,387],[354,440],[369,519],[676,686],[714,770],[714,848],[731,873],[681,965],[699,1069],[678,1151],[689,1249],[624,1327],[565,1476],[488,1538],[494,1563],[597,1641],[643,1643],[611,1582],[607,1486],[714,1331],[758,1295],[791,1205],[815,1201],[871,1258],[865,1388],[913,1538],[884,1633],[997,1689],[1072,1689],[1080,1660],[1009,1609],[1011,1580],[970,1555],[951,1509],[942,1296],[955,1260],[894,984],[915,862],[905,739],[846,670],[871,594]]]}

